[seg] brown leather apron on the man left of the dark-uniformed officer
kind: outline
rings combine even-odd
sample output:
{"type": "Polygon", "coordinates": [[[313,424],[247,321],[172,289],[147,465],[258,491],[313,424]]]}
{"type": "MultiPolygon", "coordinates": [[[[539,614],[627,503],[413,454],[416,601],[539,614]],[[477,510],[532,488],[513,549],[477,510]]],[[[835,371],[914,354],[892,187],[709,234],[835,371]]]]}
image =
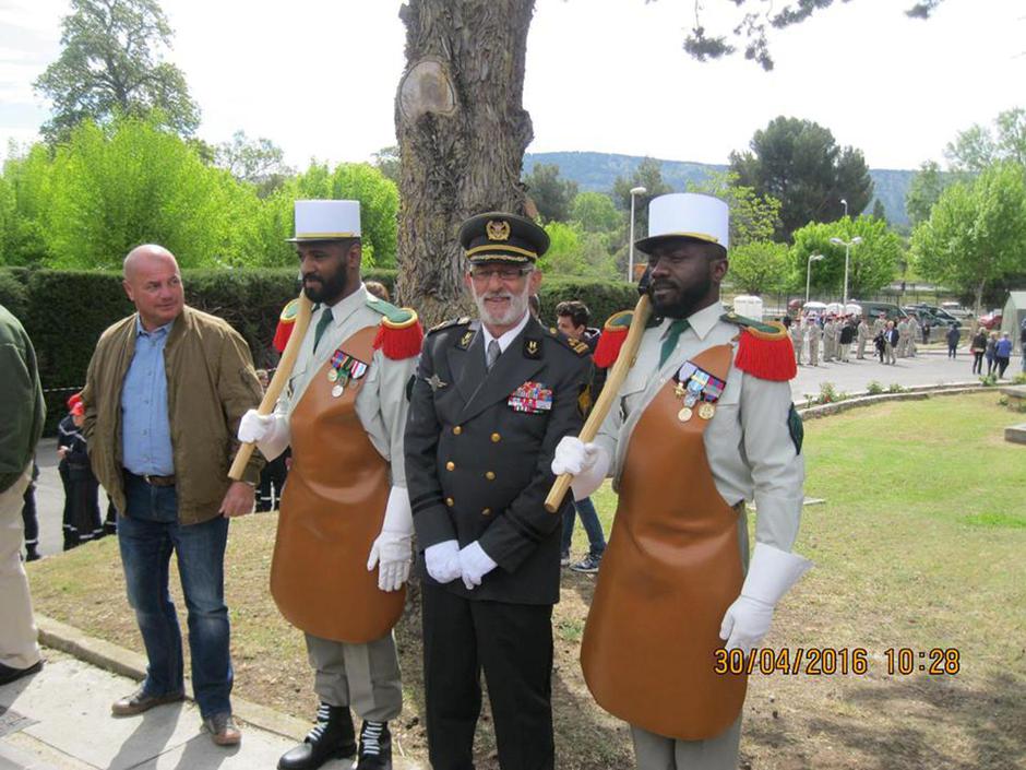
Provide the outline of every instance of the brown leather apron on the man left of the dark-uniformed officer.
{"type": "MultiPolygon", "coordinates": [[[[370,364],[377,327],[342,348],[370,364]]],[[[406,599],[384,592],[367,559],[381,532],[391,483],[356,413],[363,378],[332,396],[330,363],[313,376],[289,418],[293,467],[282,497],[271,593],[282,615],[323,639],[362,643],[387,633],[406,599]]]]}

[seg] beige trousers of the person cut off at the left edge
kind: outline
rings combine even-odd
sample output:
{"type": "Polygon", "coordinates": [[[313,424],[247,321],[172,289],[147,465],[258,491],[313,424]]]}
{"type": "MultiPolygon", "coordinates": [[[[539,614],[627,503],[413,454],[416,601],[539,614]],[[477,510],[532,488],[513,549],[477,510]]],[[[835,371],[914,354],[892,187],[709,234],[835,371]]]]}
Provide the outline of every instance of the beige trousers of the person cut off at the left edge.
{"type": "Polygon", "coordinates": [[[22,505],[31,482],[32,464],[0,493],[0,663],[11,668],[27,668],[40,659],[28,577],[22,566],[22,505]]]}

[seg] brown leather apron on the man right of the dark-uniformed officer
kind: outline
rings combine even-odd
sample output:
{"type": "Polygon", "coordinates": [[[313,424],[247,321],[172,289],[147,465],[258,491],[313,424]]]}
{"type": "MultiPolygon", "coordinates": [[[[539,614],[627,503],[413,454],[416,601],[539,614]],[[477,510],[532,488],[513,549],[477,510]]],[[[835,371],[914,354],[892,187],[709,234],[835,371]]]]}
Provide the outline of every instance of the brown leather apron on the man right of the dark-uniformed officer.
{"type": "MultiPolygon", "coordinates": [[[[692,363],[726,381],[730,345],[692,363]]],[[[635,426],[620,501],[584,629],[581,665],[606,711],[657,735],[699,741],[729,727],[743,676],[714,673],[727,607],[741,592],[738,513],[716,489],[703,443],[709,420],[669,380],[635,426]]]]}

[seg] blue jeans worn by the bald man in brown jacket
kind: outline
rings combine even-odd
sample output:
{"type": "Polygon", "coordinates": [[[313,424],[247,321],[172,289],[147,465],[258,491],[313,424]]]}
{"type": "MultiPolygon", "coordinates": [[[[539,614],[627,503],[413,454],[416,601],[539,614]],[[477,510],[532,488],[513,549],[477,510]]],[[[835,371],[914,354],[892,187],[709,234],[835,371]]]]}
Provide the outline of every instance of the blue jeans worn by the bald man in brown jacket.
{"type": "Polygon", "coordinates": [[[135,611],[148,665],[143,690],[150,696],[183,688],[181,630],[168,592],[171,552],[177,554],[189,611],[192,687],[204,719],[231,712],[232,671],[225,606],[225,544],[228,520],[178,523],[175,487],[152,487],[126,474],[126,511],[118,521],[118,544],[129,605],[135,611]]]}

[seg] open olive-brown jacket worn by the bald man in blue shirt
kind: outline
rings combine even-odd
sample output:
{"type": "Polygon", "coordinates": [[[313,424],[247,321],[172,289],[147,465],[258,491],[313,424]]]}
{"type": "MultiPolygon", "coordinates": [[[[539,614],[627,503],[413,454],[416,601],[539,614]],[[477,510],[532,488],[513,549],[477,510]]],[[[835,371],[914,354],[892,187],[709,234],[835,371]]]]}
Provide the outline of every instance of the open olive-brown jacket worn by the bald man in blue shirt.
{"type": "MultiPolygon", "coordinates": [[[[93,472],[124,511],[121,466],[121,388],[135,354],[136,316],[103,333],[90,362],[82,400],[83,434],[93,472]]],[[[164,348],[167,408],[178,491],[178,520],[199,524],[218,516],[238,450],[239,419],[260,403],[260,382],[246,341],[227,321],[186,306],[164,348]]],[[[256,483],[254,452],[243,478],[256,483]]]]}

